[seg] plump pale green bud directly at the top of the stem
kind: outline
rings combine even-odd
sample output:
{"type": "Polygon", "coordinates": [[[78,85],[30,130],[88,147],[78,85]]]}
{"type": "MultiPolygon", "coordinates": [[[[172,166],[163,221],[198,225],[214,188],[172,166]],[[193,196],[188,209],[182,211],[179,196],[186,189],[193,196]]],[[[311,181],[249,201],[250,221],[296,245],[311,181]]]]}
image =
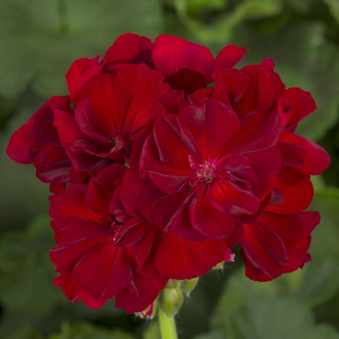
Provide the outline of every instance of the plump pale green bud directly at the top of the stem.
{"type": "Polygon", "coordinates": [[[170,283],[162,291],[161,308],[168,317],[176,315],[183,305],[184,295],[181,286],[170,283]]]}

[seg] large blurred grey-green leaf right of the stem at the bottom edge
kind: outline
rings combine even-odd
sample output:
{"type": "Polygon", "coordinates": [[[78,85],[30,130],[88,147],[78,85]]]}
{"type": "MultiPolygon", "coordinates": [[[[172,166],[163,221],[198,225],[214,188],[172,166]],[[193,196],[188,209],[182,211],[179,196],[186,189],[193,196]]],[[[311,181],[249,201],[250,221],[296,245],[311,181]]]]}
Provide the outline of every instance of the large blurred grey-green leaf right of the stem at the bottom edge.
{"type": "Polygon", "coordinates": [[[212,327],[230,339],[299,339],[326,331],[337,338],[332,328],[315,325],[310,309],[299,301],[301,286],[305,287],[303,274],[299,270],[262,283],[249,280],[239,270],[225,286],[212,316],[212,327]]]}

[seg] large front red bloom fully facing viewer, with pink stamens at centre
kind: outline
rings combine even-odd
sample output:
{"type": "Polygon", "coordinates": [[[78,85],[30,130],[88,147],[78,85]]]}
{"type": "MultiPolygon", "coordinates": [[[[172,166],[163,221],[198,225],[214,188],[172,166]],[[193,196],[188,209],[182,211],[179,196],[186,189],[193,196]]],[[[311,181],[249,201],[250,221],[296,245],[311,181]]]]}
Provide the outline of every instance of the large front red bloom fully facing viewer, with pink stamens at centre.
{"type": "Polygon", "coordinates": [[[235,216],[255,214],[277,177],[279,131],[273,114],[239,120],[209,98],[178,116],[159,115],[137,165],[162,192],[152,205],[155,224],[191,241],[230,236],[239,226],[235,216]]]}

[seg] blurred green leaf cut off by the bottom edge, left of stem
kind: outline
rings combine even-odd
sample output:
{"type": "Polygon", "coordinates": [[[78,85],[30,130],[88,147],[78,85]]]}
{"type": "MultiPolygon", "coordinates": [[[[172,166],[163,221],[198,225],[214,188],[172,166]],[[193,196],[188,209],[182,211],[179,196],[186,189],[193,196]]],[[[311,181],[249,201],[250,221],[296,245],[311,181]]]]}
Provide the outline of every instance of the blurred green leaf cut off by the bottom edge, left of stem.
{"type": "Polygon", "coordinates": [[[48,339],[133,339],[121,330],[108,330],[89,323],[67,324],[61,326],[60,334],[52,334],[48,339]]]}

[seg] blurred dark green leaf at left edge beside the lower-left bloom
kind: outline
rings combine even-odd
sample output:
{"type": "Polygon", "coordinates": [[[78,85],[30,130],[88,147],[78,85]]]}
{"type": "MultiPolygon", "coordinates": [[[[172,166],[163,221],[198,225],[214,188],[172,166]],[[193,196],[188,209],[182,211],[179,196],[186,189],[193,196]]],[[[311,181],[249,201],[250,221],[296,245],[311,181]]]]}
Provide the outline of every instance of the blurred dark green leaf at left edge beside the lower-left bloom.
{"type": "Polygon", "coordinates": [[[52,284],[54,243],[49,218],[36,218],[27,231],[10,232],[0,240],[0,300],[9,312],[43,316],[61,299],[52,284]]]}

